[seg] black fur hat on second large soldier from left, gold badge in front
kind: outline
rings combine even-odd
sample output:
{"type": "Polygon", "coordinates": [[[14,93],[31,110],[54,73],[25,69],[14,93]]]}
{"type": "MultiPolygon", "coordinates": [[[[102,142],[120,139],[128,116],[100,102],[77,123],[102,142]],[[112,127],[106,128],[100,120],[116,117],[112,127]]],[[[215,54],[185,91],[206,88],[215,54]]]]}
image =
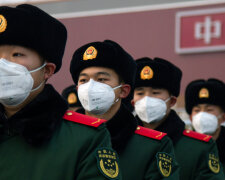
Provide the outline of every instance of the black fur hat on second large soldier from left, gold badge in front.
{"type": "Polygon", "coordinates": [[[91,66],[100,66],[113,69],[125,81],[133,86],[136,72],[136,63],[119,44],[111,40],[92,42],[74,52],[70,64],[70,73],[75,84],[80,72],[91,66]]]}

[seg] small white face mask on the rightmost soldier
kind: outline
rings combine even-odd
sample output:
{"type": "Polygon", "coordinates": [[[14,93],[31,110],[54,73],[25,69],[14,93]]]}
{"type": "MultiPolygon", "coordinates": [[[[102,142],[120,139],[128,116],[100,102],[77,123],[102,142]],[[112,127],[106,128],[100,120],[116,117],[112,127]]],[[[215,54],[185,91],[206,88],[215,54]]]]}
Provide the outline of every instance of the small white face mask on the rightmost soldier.
{"type": "Polygon", "coordinates": [[[192,125],[197,132],[203,134],[213,134],[219,127],[217,117],[207,112],[199,112],[194,115],[192,125]]]}

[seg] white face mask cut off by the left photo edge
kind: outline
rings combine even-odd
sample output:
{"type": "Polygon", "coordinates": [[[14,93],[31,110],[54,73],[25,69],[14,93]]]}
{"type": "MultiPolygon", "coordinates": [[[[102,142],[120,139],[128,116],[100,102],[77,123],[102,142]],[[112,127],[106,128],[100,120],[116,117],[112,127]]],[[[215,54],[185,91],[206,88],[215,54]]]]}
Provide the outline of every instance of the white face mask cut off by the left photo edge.
{"type": "Polygon", "coordinates": [[[28,71],[23,65],[0,59],[0,103],[5,106],[21,104],[32,91],[37,90],[41,84],[33,89],[34,80],[30,73],[42,69],[41,67],[28,71]]]}

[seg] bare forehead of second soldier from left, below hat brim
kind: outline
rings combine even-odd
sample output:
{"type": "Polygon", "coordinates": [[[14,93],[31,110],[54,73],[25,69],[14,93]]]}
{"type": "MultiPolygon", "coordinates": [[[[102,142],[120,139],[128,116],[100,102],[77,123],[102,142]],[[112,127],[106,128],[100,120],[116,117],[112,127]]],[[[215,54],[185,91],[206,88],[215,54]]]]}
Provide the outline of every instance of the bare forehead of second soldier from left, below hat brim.
{"type": "Polygon", "coordinates": [[[111,77],[118,78],[117,73],[113,69],[99,66],[93,66],[83,69],[80,72],[80,76],[82,75],[85,76],[108,75],[111,77]]]}

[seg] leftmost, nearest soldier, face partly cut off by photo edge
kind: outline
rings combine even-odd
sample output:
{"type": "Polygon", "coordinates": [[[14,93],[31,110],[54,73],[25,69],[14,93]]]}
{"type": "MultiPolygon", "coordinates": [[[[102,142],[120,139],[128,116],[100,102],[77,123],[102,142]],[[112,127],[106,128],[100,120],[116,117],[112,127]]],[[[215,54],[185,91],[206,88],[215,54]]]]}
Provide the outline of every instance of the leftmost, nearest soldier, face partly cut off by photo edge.
{"type": "Polygon", "coordinates": [[[1,180],[119,179],[104,121],[66,112],[46,84],[66,39],[65,26],[35,6],[0,7],[1,180]],[[107,161],[110,172],[101,167],[107,161]]]}

